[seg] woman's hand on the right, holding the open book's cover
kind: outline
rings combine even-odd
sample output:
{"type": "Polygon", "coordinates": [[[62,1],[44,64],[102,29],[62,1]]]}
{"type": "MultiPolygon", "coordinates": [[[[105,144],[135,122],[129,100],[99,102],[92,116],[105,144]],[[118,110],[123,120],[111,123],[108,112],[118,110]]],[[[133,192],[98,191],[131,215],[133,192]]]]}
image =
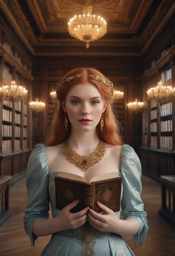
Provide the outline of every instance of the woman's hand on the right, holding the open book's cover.
{"type": "Polygon", "coordinates": [[[101,211],[104,211],[105,215],[89,209],[87,215],[90,224],[102,232],[118,233],[117,230],[119,230],[120,220],[115,216],[114,211],[100,202],[97,202],[97,204],[101,211]]]}

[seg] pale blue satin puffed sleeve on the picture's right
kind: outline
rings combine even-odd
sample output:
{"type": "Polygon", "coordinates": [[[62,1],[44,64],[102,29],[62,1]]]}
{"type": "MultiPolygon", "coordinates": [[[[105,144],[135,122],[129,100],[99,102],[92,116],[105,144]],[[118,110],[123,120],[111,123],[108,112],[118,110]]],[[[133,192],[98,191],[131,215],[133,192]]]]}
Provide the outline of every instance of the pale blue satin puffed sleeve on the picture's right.
{"type": "Polygon", "coordinates": [[[121,176],[123,183],[123,196],[121,209],[124,220],[132,217],[139,222],[139,231],[133,235],[135,245],[141,240],[144,245],[148,231],[148,221],[144,204],[141,200],[141,164],[134,149],[129,145],[122,146],[121,176]]]}

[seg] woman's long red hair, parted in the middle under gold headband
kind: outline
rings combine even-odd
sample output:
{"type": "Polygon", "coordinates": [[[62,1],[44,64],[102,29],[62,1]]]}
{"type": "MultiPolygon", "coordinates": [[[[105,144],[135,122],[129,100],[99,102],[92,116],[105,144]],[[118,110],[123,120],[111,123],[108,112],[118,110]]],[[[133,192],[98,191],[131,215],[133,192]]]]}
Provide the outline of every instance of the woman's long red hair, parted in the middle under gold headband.
{"type": "Polygon", "coordinates": [[[93,79],[92,77],[89,77],[89,75],[100,76],[104,80],[106,80],[107,78],[103,74],[101,74],[101,72],[94,68],[79,67],[65,74],[61,81],[63,81],[63,79],[65,79],[66,77],[76,75],[81,75],[81,77],[77,77],[75,79],[72,79],[71,81],[67,81],[61,84],[61,87],[57,92],[58,103],[54,110],[54,117],[48,130],[46,146],[54,146],[68,139],[70,135],[71,124],[68,120],[68,127],[66,131],[64,126],[65,112],[63,111],[62,103],[65,102],[67,93],[72,88],[72,86],[85,82],[89,82],[99,89],[102,101],[106,106],[105,112],[103,113],[103,132],[101,132],[100,122],[96,126],[96,131],[99,136],[99,139],[111,145],[121,146],[123,144],[121,137],[121,125],[119,124],[116,114],[114,113],[114,106],[112,104],[112,90],[107,85],[105,85],[105,83],[93,79]]]}

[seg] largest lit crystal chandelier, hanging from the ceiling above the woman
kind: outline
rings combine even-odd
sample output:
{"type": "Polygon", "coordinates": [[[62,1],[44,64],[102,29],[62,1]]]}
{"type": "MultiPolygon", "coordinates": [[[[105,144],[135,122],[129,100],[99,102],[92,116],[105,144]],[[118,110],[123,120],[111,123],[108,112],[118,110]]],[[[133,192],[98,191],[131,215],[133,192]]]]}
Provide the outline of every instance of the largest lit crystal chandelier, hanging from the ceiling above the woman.
{"type": "Polygon", "coordinates": [[[74,15],[67,23],[68,32],[71,36],[86,43],[86,48],[89,48],[89,43],[101,38],[107,32],[107,23],[103,17],[93,14],[92,5],[83,8],[83,15],[74,15]]]}

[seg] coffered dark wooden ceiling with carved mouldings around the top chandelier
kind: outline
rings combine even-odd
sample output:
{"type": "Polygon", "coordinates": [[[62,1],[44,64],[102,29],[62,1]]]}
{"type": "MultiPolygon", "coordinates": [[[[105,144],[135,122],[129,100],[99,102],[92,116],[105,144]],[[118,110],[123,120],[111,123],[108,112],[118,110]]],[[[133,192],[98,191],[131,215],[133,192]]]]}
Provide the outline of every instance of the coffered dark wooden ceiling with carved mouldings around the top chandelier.
{"type": "Polygon", "coordinates": [[[107,21],[103,38],[85,43],[70,36],[67,22],[86,0],[0,0],[0,11],[36,56],[141,56],[175,15],[174,0],[92,0],[93,14],[107,21]]]}

